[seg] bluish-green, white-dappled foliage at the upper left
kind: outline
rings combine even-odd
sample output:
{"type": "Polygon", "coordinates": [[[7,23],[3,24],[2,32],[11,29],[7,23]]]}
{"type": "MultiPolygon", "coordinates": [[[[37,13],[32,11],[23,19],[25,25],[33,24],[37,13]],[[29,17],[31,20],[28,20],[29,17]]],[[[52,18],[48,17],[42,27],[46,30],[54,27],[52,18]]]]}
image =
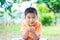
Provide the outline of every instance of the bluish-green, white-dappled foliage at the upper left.
{"type": "MultiPolygon", "coordinates": [[[[12,19],[14,19],[14,18],[16,18],[16,17],[21,17],[21,11],[18,11],[17,9],[15,9],[15,10],[13,10],[12,9],[12,7],[13,7],[13,4],[14,3],[17,3],[18,2],[18,0],[13,0],[13,3],[12,2],[10,2],[10,1],[6,1],[6,0],[1,0],[0,1],[1,2],[1,4],[2,5],[0,5],[1,6],[1,8],[3,8],[4,10],[5,10],[5,12],[7,12],[8,13],[8,15],[12,18],[12,19]],[[16,1],[16,2],[15,2],[16,1]],[[7,4],[7,5],[6,5],[7,4]],[[18,11],[18,12],[17,12],[18,11]],[[16,16],[17,15],[17,16],[16,16]]],[[[17,3],[18,4],[18,3],[17,3]]],[[[14,7],[15,8],[15,7],[14,7]]],[[[3,14],[4,13],[1,13],[0,12],[0,17],[1,16],[3,16],[3,14]]]]}

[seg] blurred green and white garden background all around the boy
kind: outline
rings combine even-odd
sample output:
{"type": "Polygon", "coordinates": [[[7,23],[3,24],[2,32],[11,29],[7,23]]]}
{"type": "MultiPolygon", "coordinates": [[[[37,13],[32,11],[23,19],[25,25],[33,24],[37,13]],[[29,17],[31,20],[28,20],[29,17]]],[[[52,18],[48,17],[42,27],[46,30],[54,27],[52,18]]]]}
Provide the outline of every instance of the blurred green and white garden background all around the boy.
{"type": "Polygon", "coordinates": [[[24,11],[34,7],[42,23],[42,37],[60,39],[60,0],[0,0],[0,40],[21,36],[24,11]]]}

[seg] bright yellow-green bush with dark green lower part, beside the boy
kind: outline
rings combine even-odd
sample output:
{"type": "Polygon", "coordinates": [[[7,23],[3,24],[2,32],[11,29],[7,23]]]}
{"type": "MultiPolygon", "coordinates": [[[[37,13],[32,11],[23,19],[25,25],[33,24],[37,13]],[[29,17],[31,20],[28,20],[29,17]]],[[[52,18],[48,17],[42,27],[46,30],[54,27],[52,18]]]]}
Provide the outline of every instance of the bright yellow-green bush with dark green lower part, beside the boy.
{"type": "Polygon", "coordinates": [[[40,16],[39,21],[41,21],[43,25],[51,25],[52,22],[56,21],[56,14],[54,14],[53,11],[50,11],[46,5],[42,6],[42,4],[37,4],[37,8],[40,16]]]}

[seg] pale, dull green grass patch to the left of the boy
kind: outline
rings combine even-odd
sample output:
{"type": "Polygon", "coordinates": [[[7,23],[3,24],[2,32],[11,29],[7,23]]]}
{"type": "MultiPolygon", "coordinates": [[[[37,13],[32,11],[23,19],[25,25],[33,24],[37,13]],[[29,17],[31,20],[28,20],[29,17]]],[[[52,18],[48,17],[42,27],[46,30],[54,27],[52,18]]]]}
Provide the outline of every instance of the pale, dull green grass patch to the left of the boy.
{"type": "Polygon", "coordinates": [[[0,32],[20,32],[21,25],[20,24],[8,24],[0,26],[0,32]]]}

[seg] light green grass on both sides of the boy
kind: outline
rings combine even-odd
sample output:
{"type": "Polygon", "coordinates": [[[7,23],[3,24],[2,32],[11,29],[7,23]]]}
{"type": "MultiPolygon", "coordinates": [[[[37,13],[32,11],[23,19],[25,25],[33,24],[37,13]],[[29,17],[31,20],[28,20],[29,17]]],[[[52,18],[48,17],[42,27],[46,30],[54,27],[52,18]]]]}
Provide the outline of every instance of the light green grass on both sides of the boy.
{"type": "MultiPolygon", "coordinates": [[[[16,32],[19,33],[21,29],[20,24],[8,24],[0,25],[0,32],[16,32]]],[[[43,26],[42,27],[42,36],[60,36],[60,27],[59,26],[43,26]]]]}

